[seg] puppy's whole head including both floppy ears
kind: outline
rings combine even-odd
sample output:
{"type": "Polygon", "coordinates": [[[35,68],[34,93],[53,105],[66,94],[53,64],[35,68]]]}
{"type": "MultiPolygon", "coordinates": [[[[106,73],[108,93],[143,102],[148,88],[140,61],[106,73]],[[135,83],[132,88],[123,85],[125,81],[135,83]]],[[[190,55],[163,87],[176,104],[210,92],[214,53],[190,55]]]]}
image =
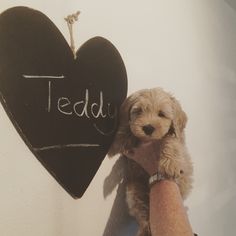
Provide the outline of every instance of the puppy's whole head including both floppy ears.
{"type": "Polygon", "coordinates": [[[123,102],[119,118],[120,125],[109,151],[110,156],[122,153],[124,148],[132,148],[132,136],[149,141],[174,134],[184,141],[187,116],[179,102],[161,88],[133,93],[123,102]]]}

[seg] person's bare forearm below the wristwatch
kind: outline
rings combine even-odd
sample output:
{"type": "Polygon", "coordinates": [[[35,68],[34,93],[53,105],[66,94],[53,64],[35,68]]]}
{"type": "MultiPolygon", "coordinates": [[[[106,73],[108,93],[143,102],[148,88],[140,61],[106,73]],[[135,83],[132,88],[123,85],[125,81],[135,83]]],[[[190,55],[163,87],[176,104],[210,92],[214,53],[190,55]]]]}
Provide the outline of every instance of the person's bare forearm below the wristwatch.
{"type": "Polygon", "coordinates": [[[152,236],[193,236],[178,186],[160,181],[150,190],[152,236]]]}

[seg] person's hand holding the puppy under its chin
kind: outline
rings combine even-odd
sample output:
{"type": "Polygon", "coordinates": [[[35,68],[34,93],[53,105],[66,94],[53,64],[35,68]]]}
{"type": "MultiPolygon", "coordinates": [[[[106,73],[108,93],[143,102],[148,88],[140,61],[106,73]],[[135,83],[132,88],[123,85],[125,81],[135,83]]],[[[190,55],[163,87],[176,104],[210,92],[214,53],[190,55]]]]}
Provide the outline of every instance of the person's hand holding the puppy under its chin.
{"type": "Polygon", "coordinates": [[[136,161],[150,176],[158,170],[160,143],[141,142],[138,147],[127,150],[124,154],[136,161]]]}

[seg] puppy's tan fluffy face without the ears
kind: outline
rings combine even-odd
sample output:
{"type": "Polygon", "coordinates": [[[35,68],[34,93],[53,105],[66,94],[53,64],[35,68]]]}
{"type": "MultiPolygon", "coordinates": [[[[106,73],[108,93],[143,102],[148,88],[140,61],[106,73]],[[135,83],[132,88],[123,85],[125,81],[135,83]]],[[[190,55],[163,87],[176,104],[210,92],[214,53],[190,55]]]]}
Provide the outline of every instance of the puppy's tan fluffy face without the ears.
{"type": "Polygon", "coordinates": [[[162,89],[141,90],[131,99],[129,126],[140,140],[160,140],[174,132],[175,105],[162,89]]]}

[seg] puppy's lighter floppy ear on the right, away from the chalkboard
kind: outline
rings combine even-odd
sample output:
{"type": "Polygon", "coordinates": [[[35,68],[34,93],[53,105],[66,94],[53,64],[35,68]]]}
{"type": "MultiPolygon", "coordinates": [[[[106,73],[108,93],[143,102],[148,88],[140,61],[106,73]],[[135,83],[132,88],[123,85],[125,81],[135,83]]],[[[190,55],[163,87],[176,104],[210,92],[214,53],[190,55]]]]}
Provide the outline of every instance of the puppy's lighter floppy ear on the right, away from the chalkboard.
{"type": "Polygon", "coordinates": [[[176,137],[181,138],[183,136],[183,130],[186,126],[188,118],[186,113],[182,110],[180,103],[174,97],[171,97],[171,100],[174,113],[172,129],[176,137]]]}

